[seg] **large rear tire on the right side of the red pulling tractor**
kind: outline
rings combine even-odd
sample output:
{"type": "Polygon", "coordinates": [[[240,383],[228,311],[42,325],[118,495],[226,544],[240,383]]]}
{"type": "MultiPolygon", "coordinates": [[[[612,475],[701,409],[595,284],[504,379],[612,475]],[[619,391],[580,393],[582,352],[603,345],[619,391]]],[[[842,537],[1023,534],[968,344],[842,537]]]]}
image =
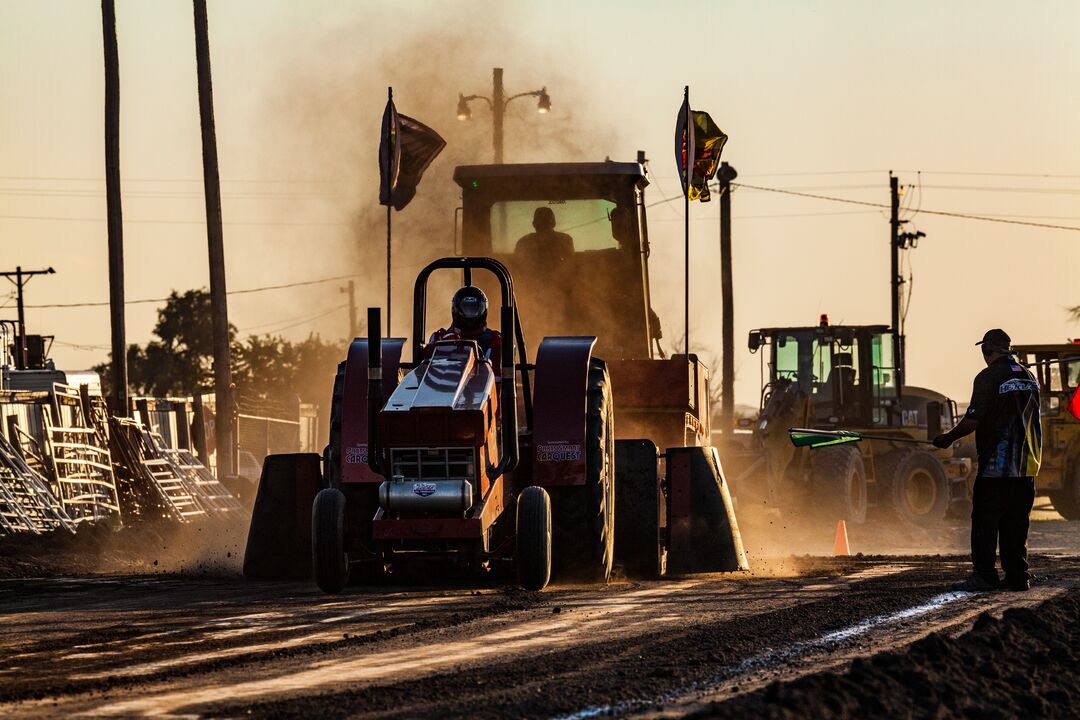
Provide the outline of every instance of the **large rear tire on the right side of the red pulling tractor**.
{"type": "Polygon", "coordinates": [[[615,409],[602,359],[590,361],[585,411],[585,485],[561,488],[553,499],[553,560],[561,579],[607,582],[615,561],[615,409]]]}

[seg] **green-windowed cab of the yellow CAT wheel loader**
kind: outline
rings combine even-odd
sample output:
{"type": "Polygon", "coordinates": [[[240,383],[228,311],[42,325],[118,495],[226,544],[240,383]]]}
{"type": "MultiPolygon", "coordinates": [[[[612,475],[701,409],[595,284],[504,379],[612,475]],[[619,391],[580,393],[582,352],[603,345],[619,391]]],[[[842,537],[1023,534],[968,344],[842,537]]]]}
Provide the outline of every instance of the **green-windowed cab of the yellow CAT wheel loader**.
{"type": "Polygon", "coordinates": [[[883,325],[762,328],[750,349],[768,348],[769,381],[762,412],[778,389],[808,400],[805,421],[814,427],[897,424],[895,341],[883,325]]]}

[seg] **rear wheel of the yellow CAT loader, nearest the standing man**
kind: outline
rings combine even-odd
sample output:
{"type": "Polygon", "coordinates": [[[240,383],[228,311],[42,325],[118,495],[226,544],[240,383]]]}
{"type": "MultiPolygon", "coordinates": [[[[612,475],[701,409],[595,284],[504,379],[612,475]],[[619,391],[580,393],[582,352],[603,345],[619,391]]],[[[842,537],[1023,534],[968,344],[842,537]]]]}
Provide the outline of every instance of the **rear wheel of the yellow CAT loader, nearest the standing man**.
{"type": "Polygon", "coordinates": [[[881,497],[897,518],[922,528],[945,519],[949,479],[932,452],[894,450],[877,464],[881,497]]]}

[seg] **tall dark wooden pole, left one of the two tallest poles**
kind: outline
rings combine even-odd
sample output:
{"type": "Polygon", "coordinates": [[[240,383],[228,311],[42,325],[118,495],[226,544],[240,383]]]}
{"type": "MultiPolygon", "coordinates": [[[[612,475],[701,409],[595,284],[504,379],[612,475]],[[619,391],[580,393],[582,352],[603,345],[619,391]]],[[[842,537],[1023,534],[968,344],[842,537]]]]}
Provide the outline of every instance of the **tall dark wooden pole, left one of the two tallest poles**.
{"type": "Polygon", "coordinates": [[[105,201],[109,235],[109,321],[112,412],[127,415],[127,328],[124,318],[124,225],[120,203],[120,57],[114,0],[102,0],[105,41],[105,201]]]}

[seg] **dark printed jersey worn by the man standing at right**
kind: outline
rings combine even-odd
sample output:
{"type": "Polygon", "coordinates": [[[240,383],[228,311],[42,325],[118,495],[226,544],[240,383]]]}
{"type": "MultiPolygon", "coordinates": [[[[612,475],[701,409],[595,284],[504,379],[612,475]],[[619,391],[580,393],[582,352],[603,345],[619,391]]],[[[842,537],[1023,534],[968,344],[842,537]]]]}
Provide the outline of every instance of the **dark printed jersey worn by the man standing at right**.
{"type": "Polygon", "coordinates": [[[980,477],[1035,477],[1042,462],[1039,382],[1007,355],[975,376],[967,418],[978,421],[980,477]]]}

